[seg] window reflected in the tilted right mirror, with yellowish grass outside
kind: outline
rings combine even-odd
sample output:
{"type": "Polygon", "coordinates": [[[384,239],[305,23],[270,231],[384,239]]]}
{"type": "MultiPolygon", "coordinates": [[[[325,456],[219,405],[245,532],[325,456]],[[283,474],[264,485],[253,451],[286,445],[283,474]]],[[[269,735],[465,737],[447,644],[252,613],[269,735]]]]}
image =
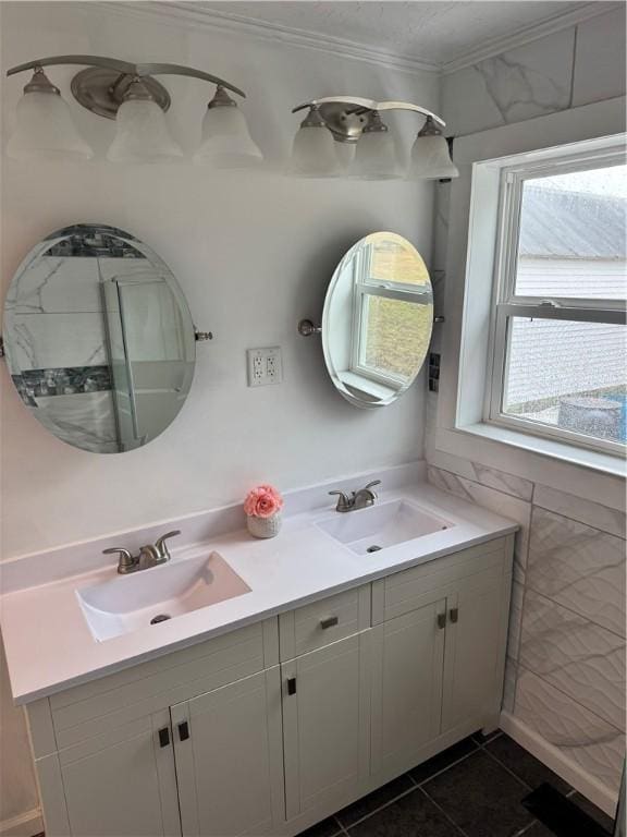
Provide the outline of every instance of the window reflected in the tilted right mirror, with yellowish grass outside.
{"type": "Polygon", "coordinates": [[[369,244],[355,260],[351,371],[392,389],[407,386],[425,357],[433,320],[422,258],[394,241],[369,244]],[[421,363],[421,361],[420,361],[421,363]]]}

